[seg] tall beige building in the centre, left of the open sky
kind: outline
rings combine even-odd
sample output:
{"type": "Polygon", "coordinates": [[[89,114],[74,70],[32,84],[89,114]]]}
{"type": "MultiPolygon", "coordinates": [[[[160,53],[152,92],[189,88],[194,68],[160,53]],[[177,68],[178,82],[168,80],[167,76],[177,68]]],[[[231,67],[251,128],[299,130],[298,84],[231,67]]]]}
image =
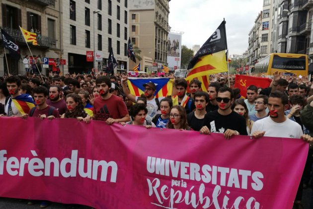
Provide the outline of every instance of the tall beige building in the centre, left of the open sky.
{"type": "MultiPolygon", "coordinates": [[[[170,0],[130,0],[131,41],[141,50],[141,70],[157,72],[167,65],[168,14],[170,0]]],[[[132,61],[129,68],[136,64],[132,61]]]]}

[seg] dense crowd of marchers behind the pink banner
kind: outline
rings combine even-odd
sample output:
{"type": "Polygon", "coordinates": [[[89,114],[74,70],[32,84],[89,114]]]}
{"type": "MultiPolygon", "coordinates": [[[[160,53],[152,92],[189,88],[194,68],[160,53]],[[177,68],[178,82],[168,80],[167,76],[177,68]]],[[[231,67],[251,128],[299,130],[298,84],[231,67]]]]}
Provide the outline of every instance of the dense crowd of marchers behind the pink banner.
{"type": "MultiPolygon", "coordinates": [[[[201,89],[202,84],[197,79],[188,84],[184,78],[166,75],[173,80],[172,94],[157,98],[153,82],[143,85],[143,95],[132,95],[126,74],[67,74],[61,77],[55,74],[55,77],[43,77],[44,81],[35,74],[31,78],[28,76],[0,78],[1,116],[76,118],[87,123],[102,120],[109,125],[120,123],[200,131],[201,134],[221,133],[226,139],[234,135],[251,135],[313,142],[313,85],[308,77],[284,76],[276,72],[270,87],[248,86],[244,98],[234,88],[235,75],[211,75],[207,90],[201,89]],[[190,93],[187,93],[188,88],[190,93]],[[31,108],[25,112],[14,101],[27,102],[31,108]]],[[[295,200],[294,208],[297,209],[303,208],[302,191],[311,179],[312,150],[309,150],[295,200]]]]}

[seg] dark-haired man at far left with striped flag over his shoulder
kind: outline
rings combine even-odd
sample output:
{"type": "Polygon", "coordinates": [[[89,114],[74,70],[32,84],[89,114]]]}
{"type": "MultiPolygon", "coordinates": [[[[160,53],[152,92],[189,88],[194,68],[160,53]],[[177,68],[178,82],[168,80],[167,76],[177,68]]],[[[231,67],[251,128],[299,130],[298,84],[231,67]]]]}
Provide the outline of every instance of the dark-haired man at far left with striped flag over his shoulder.
{"type": "Polygon", "coordinates": [[[21,80],[10,76],[5,79],[6,88],[10,94],[5,100],[5,113],[7,116],[22,116],[35,106],[33,98],[28,94],[20,94],[21,80]]]}

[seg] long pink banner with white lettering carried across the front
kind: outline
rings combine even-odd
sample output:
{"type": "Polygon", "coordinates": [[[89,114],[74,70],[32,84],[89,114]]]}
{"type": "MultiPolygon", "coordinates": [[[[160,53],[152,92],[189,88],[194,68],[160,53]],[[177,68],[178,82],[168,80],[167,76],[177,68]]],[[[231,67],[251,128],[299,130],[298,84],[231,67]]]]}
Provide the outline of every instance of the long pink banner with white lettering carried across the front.
{"type": "Polygon", "coordinates": [[[76,119],[0,127],[1,197],[108,209],[291,209],[309,147],[76,119]]]}

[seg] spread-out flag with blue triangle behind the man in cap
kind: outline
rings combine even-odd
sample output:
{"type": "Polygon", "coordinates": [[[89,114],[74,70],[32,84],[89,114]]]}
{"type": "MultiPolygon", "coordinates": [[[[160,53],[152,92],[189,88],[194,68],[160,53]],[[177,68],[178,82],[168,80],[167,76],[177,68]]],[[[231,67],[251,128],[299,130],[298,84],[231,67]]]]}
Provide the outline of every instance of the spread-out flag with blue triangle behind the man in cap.
{"type": "Polygon", "coordinates": [[[130,93],[134,96],[140,97],[140,95],[145,93],[144,84],[153,82],[156,87],[155,97],[166,97],[171,96],[173,89],[173,80],[169,78],[128,78],[127,84],[130,93]]]}

